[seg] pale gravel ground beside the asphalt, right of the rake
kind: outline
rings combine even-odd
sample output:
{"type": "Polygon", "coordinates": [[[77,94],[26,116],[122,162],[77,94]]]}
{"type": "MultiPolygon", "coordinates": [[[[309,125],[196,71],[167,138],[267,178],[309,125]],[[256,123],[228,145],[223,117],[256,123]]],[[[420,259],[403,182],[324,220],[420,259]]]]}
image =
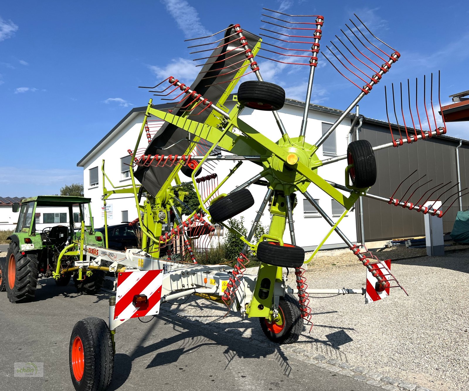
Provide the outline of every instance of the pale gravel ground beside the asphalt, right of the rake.
{"type": "MultiPolygon", "coordinates": [[[[315,326],[311,333],[305,327],[300,340],[286,349],[362,366],[368,376],[377,372],[434,390],[469,390],[467,255],[393,263],[409,297],[394,289],[386,300],[368,305],[358,295],[313,298],[315,326]]],[[[361,265],[328,267],[310,269],[307,276],[310,287],[358,288],[364,286],[365,270],[361,265]]],[[[222,304],[190,298],[173,310],[203,323],[217,322],[227,334],[266,341],[257,319],[224,317],[222,304]]]]}

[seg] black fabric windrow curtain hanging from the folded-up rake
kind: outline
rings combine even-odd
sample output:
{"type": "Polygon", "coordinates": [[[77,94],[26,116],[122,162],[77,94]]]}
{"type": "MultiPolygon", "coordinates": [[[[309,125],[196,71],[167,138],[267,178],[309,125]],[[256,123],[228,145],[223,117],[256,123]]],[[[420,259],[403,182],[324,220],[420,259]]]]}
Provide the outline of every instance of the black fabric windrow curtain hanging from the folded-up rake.
{"type": "MultiPolygon", "coordinates": [[[[231,25],[233,26],[233,25],[231,25]]],[[[230,41],[234,40],[234,36],[230,36],[231,34],[234,33],[234,30],[227,29],[225,32],[225,41],[224,43],[228,43],[230,41]]],[[[250,49],[252,49],[253,45],[257,43],[259,40],[259,37],[251,34],[248,31],[243,30],[243,35],[247,38],[248,42],[250,43],[250,49]]],[[[221,42],[220,42],[221,43],[221,42]]],[[[220,46],[219,43],[219,46],[220,46]]],[[[216,84],[224,81],[229,81],[232,80],[234,77],[234,74],[236,72],[228,73],[227,75],[222,75],[223,73],[227,73],[230,70],[233,70],[235,68],[238,68],[240,64],[234,65],[236,62],[242,60],[244,57],[242,54],[234,56],[234,54],[244,52],[244,49],[237,48],[239,46],[239,40],[235,40],[232,43],[229,43],[227,46],[223,46],[221,48],[215,49],[211,56],[211,58],[208,58],[207,61],[205,62],[205,65],[202,67],[201,72],[197,75],[196,80],[192,83],[190,86],[190,89],[193,91],[197,91],[198,94],[202,94],[204,98],[208,99],[209,101],[212,101],[213,104],[216,104],[221,95],[225,92],[225,89],[227,88],[229,83],[223,83],[223,84],[217,84],[217,85],[212,85],[211,84],[216,84]],[[233,51],[231,51],[233,50],[233,51]],[[225,54],[227,53],[227,54],[225,54]],[[230,69],[223,69],[219,70],[220,68],[224,68],[227,66],[232,66],[230,69]]],[[[248,68],[249,69],[249,68],[248,68]]],[[[169,76],[169,75],[168,75],[169,76]]],[[[177,79],[177,74],[172,75],[177,79]]],[[[182,80],[183,81],[183,80],[182,80]]],[[[190,101],[192,101],[194,98],[187,98],[186,100],[182,101],[180,104],[178,104],[174,109],[172,114],[176,116],[181,116],[184,112],[181,109],[183,106],[186,106],[189,104],[190,101]]],[[[197,107],[195,110],[202,110],[205,106],[202,104],[197,107]]],[[[206,109],[200,116],[189,116],[189,119],[192,119],[197,122],[204,123],[204,121],[207,119],[210,109],[206,109]]],[[[181,142],[169,150],[163,151],[164,148],[168,147],[169,145],[172,145],[176,143],[177,141],[180,141],[181,139],[187,139],[188,138],[188,132],[176,127],[175,125],[171,123],[164,123],[163,126],[158,130],[158,132],[155,134],[155,136],[152,138],[150,144],[148,145],[145,154],[146,155],[155,155],[155,154],[172,154],[172,155],[182,155],[187,147],[189,146],[187,142],[181,142]]],[[[192,139],[193,136],[189,134],[189,139],[192,139]]],[[[210,145],[210,143],[207,143],[210,145]]],[[[140,167],[137,166],[137,169],[135,171],[135,177],[140,181],[140,183],[144,186],[144,188],[152,195],[156,196],[157,193],[159,192],[159,189],[161,186],[165,183],[171,172],[174,170],[174,167],[140,167]]]]}

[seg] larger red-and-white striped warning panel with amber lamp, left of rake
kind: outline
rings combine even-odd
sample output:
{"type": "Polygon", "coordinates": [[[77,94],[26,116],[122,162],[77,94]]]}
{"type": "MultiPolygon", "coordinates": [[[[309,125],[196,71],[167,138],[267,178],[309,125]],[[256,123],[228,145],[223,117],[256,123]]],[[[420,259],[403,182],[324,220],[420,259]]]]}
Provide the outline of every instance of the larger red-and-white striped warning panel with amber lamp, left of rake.
{"type": "Polygon", "coordinates": [[[119,273],[114,319],[124,320],[158,314],[163,283],[162,271],[119,273]]]}

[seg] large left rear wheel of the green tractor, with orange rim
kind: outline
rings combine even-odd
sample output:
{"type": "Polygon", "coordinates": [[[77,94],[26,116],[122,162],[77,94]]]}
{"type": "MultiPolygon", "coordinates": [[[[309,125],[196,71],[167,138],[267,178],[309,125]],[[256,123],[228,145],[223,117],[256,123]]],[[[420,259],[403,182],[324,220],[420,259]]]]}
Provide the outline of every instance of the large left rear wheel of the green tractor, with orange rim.
{"type": "Polygon", "coordinates": [[[15,242],[11,242],[7,252],[6,288],[11,303],[27,302],[34,299],[38,285],[38,254],[20,253],[15,242]]]}

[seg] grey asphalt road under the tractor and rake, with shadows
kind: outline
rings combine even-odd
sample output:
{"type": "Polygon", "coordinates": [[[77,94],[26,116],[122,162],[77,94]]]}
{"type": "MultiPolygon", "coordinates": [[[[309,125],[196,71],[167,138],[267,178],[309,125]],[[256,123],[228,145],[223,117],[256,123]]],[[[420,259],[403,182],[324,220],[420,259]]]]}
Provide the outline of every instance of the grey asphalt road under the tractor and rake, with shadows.
{"type": "MultiPolygon", "coordinates": [[[[107,319],[108,297],[77,295],[73,285],[57,287],[50,278],[40,280],[32,303],[11,304],[6,292],[0,292],[0,390],[73,390],[68,368],[71,330],[88,316],[107,319]],[[14,377],[14,362],[43,362],[44,377],[14,377]]],[[[255,321],[252,325],[258,327],[255,321]]],[[[174,316],[169,304],[163,304],[151,322],[132,319],[116,333],[110,390],[159,388],[382,391],[287,357],[273,344],[262,348],[230,338],[229,327],[216,332],[189,323],[174,316]]]]}

